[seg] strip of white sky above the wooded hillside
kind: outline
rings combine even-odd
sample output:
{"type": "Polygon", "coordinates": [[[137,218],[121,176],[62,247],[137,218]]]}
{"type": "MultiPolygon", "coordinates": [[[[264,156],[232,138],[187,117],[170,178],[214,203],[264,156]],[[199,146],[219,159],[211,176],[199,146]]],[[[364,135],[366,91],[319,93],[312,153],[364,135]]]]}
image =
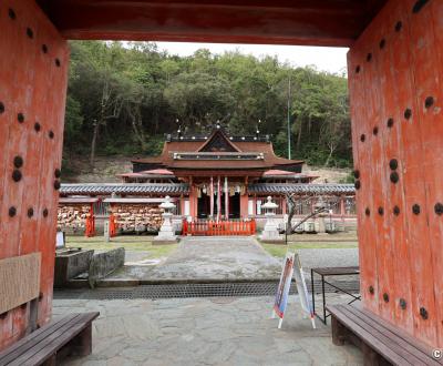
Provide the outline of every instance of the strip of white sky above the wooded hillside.
{"type": "Polygon", "coordinates": [[[255,57],[277,55],[280,62],[293,67],[315,65],[319,71],[343,74],[346,72],[347,48],[269,45],[269,44],[227,44],[227,43],[182,43],[156,42],[159,50],[182,57],[192,55],[196,50],[206,48],[212,53],[239,50],[255,57]]]}

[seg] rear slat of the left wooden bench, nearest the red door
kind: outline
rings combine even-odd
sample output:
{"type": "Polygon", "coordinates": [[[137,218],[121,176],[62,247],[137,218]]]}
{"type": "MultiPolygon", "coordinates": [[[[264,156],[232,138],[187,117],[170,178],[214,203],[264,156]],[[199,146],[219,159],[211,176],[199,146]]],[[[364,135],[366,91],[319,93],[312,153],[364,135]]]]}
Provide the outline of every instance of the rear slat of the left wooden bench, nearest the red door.
{"type": "Polygon", "coordinates": [[[48,337],[50,334],[62,327],[68,322],[72,321],[78,314],[65,316],[56,322],[48,324],[28,336],[16,342],[12,346],[0,353],[0,365],[7,365],[14,360],[18,356],[33,347],[35,344],[48,337]]]}

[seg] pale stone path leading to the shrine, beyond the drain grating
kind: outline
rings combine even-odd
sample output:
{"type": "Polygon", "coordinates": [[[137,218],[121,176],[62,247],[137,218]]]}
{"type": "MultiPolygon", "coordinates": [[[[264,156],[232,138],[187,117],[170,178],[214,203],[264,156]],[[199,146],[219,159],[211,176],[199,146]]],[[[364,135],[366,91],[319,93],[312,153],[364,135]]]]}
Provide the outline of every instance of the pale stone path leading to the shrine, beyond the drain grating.
{"type": "Polygon", "coordinates": [[[262,279],[279,278],[281,263],[250,237],[184,237],[157,266],[125,266],[109,281],[121,279],[262,279]]]}

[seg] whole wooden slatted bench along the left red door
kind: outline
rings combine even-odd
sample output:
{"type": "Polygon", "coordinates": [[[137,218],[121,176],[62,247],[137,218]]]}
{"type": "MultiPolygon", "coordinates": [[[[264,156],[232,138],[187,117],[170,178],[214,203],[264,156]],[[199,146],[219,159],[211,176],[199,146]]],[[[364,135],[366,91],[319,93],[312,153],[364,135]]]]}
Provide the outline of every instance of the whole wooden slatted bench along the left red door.
{"type": "Polygon", "coordinates": [[[91,325],[100,313],[71,314],[29,334],[0,353],[0,366],[52,366],[69,356],[91,354],[91,325]]]}

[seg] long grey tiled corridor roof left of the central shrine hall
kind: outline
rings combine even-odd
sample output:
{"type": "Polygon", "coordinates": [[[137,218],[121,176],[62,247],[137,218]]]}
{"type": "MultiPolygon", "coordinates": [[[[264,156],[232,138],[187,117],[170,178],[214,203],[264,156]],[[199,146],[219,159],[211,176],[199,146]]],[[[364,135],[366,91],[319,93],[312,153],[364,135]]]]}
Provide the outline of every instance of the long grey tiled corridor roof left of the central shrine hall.
{"type": "Polygon", "coordinates": [[[62,184],[60,194],[90,195],[90,194],[182,194],[188,193],[189,186],[185,183],[84,183],[62,184]]]}

